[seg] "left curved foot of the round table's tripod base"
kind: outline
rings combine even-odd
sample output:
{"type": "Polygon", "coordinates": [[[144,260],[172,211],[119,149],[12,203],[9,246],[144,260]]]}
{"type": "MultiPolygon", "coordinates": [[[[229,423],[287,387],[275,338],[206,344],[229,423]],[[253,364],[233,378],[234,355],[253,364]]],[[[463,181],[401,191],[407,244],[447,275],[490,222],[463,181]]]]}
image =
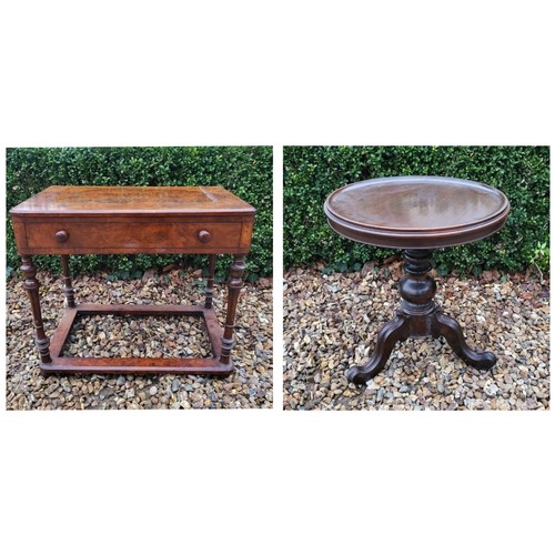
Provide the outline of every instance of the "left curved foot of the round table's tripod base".
{"type": "Polygon", "coordinates": [[[380,330],[376,347],[370,361],[363,366],[350,367],[345,372],[346,379],[357,385],[366,383],[385,366],[395,343],[406,340],[408,335],[408,319],[397,314],[380,330]]]}

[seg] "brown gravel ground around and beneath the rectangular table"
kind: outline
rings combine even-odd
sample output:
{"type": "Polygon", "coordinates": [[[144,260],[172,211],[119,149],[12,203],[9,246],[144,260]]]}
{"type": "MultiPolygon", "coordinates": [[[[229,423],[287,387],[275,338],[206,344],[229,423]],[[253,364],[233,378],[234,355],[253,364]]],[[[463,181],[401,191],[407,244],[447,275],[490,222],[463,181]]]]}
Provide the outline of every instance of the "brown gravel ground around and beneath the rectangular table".
{"type": "MultiPolygon", "coordinates": [[[[63,312],[61,279],[39,272],[42,316],[50,336],[63,312]]],[[[107,282],[104,275],[73,280],[75,301],[91,303],[198,304],[199,272],[173,270],[142,280],[107,282]]],[[[224,284],[214,309],[224,319],[224,284]]],[[[194,375],[41,375],[29,300],[20,279],[7,283],[7,408],[261,408],[272,406],[271,280],[246,284],[236,314],[235,369],[225,379],[194,375]]],[[[210,342],[194,316],[81,316],[63,354],[72,356],[205,356],[210,342]]]]}

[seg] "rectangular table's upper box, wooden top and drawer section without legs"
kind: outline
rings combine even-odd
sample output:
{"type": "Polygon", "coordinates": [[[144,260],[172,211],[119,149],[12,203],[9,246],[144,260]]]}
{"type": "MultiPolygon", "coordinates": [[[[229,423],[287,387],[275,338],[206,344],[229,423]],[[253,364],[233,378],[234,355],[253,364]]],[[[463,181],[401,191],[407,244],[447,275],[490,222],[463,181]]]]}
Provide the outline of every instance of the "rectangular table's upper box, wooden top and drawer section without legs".
{"type": "Polygon", "coordinates": [[[255,212],[221,186],[87,185],[10,211],[20,254],[246,254],[255,212]]]}

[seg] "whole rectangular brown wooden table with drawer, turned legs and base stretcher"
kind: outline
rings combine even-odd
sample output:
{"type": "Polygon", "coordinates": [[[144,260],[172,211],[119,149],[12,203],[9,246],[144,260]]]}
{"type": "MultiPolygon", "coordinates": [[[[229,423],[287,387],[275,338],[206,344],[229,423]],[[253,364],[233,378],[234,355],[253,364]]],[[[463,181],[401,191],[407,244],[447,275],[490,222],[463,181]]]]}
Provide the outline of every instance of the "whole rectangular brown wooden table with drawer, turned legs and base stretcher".
{"type": "Polygon", "coordinates": [[[233,367],[231,350],[244,258],[251,245],[255,210],[220,186],[50,186],[11,211],[23,264],[40,354],[40,369],[51,373],[218,374],[233,367]],[[203,305],[75,304],[69,254],[208,254],[203,305]],[[65,313],[52,336],[44,333],[39,282],[31,260],[59,254],[65,313]],[[232,254],[225,325],[212,307],[216,254],[232,254]],[[212,344],[211,359],[61,356],[78,314],[202,316],[212,344]]]}

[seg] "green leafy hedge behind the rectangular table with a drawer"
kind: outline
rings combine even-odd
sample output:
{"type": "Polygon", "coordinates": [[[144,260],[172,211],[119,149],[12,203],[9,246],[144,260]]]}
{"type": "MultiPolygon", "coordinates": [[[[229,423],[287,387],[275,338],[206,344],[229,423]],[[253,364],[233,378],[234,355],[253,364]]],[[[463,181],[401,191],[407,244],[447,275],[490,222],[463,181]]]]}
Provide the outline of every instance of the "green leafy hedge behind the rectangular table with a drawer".
{"type": "MultiPolygon", "coordinates": [[[[256,208],[252,250],[246,259],[249,278],[272,273],[272,148],[88,148],[8,149],[7,208],[49,185],[221,185],[256,208]]],[[[20,260],[8,214],[7,262],[20,260]]],[[[58,256],[40,256],[41,268],[59,271],[58,256]]],[[[204,256],[205,259],[205,256],[204,256]]],[[[72,256],[74,273],[107,270],[118,275],[139,274],[169,263],[199,265],[191,256],[82,255],[72,256]]],[[[229,258],[220,258],[218,274],[226,273],[229,258]]]]}

